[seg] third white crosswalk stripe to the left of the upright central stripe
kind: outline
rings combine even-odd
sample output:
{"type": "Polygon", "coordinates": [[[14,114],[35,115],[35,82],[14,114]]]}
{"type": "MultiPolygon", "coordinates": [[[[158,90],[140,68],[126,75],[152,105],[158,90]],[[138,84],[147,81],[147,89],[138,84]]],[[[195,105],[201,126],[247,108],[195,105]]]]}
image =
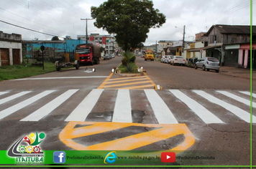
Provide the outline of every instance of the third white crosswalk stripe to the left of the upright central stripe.
{"type": "Polygon", "coordinates": [[[54,91],[55,90],[46,90],[45,92],[41,92],[40,94],[35,95],[34,97],[31,97],[27,100],[24,100],[23,102],[20,102],[17,105],[9,107],[6,110],[2,110],[0,112],[0,120],[8,115],[12,115],[12,113],[17,112],[18,110],[21,110],[22,108],[26,107],[27,105],[32,104],[33,102],[40,100],[42,97],[45,97],[54,91]]]}

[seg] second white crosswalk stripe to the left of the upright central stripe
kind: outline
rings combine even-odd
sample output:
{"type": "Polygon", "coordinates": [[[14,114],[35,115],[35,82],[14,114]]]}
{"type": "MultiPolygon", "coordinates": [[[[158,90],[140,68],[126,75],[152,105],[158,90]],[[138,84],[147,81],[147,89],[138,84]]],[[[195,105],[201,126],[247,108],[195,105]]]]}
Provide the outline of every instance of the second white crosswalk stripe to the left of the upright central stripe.
{"type": "Polygon", "coordinates": [[[55,110],[55,108],[59,107],[63,102],[68,100],[69,97],[71,97],[74,93],[76,93],[78,90],[68,90],[67,92],[63,93],[62,95],[56,97],[51,102],[47,103],[45,106],[41,107],[37,111],[33,112],[29,116],[25,117],[24,119],[20,121],[39,121],[43,117],[47,116],[55,110]]]}

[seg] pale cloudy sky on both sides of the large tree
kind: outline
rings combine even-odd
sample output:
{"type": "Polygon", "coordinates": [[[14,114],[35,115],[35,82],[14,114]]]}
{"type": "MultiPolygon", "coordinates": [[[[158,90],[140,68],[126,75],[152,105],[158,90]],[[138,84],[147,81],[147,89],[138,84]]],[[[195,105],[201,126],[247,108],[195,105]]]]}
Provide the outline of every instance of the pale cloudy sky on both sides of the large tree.
{"type": "MultiPolygon", "coordinates": [[[[104,0],[1,0],[0,31],[22,34],[22,39],[51,39],[52,36],[86,34],[86,21],[91,6],[104,0]],[[6,24],[4,22],[9,24],[6,24]],[[40,34],[21,29],[33,29],[40,34]]],[[[154,8],[165,14],[166,22],[159,29],[150,29],[145,45],[159,40],[180,40],[186,25],[186,40],[193,40],[198,32],[207,32],[214,24],[250,25],[250,0],[153,0],[154,8]],[[177,26],[177,28],[175,28],[177,26]]],[[[252,0],[252,24],[256,25],[256,0],[252,0]]],[[[88,34],[108,32],[97,29],[88,21],[88,34]]]]}

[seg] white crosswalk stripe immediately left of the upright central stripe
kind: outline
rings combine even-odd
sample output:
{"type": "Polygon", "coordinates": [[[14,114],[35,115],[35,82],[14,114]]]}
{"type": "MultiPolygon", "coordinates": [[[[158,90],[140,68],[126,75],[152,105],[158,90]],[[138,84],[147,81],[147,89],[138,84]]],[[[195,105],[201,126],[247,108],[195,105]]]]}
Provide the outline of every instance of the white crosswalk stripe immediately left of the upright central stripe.
{"type": "Polygon", "coordinates": [[[76,107],[73,112],[65,119],[65,121],[84,121],[89,115],[93,107],[98,102],[101,93],[104,90],[92,90],[84,100],[76,107]]]}

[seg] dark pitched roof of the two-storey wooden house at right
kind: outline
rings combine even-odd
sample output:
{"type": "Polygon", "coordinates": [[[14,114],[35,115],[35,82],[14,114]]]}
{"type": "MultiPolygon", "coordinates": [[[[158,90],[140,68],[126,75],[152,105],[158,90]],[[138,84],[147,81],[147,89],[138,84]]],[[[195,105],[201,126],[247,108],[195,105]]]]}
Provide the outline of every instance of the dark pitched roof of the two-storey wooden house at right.
{"type": "MultiPolygon", "coordinates": [[[[214,28],[221,34],[250,34],[250,26],[216,24],[211,26],[209,31],[206,33],[206,36],[208,36],[214,28]]],[[[252,34],[256,34],[256,26],[252,26],[252,34]]]]}

